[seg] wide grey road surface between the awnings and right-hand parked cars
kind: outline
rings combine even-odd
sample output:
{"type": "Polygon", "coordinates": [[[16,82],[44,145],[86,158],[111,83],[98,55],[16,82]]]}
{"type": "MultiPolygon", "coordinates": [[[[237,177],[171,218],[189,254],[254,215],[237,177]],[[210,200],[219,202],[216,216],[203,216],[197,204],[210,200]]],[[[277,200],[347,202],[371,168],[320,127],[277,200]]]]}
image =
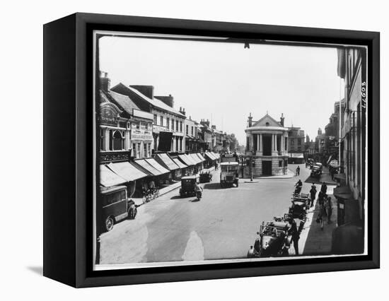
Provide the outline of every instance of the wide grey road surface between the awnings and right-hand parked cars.
{"type": "MultiPolygon", "coordinates": [[[[178,189],[139,207],[135,220],[124,220],[100,236],[100,264],[129,264],[202,259],[245,258],[262,220],[283,216],[291,203],[291,179],[257,179],[221,189],[219,173],[202,184],[203,198],[179,198],[178,189]]],[[[296,165],[289,165],[296,170],[296,165]]],[[[310,184],[303,184],[308,193],[310,184]]]]}

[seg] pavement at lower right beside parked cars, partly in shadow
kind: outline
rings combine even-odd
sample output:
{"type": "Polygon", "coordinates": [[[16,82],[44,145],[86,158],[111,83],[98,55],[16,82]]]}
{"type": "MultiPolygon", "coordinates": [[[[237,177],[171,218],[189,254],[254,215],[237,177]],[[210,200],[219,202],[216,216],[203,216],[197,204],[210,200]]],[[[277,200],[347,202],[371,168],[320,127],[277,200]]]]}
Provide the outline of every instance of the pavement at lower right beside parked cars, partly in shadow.
{"type": "Polygon", "coordinates": [[[298,242],[298,248],[303,256],[326,255],[331,252],[332,231],[337,228],[337,199],[332,195],[334,188],[335,186],[329,186],[327,191],[332,201],[332,223],[328,224],[325,217],[323,230],[320,228],[320,223],[316,223],[319,213],[318,199],[315,199],[314,206],[310,208],[298,242]]]}

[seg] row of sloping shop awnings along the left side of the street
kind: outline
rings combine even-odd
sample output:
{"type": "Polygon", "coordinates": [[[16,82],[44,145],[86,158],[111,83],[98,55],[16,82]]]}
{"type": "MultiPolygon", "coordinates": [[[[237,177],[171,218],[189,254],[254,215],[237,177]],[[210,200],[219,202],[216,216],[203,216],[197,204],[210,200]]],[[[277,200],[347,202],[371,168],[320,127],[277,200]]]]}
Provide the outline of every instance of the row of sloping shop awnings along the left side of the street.
{"type": "Polygon", "coordinates": [[[153,182],[166,187],[185,175],[195,175],[217,164],[219,154],[156,153],[153,158],[110,162],[100,165],[100,189],[127,186],[127,196],[141,197],[145,186],[153,182]]]}

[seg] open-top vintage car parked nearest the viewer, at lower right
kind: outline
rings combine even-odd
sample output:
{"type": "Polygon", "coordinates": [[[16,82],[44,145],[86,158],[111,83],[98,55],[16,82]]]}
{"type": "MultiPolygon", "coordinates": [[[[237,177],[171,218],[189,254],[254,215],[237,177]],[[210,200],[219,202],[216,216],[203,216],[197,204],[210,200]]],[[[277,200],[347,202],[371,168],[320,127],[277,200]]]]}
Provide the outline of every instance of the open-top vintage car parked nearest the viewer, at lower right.
{"type": "Polygon", "coordinates": [[[257,239],[248,250],[248,258],[253,257],[273,257],[288,256],[291,245],[291,235],[289,235],[290,224],[272,220],[262,222],[260,232],[257,232],[257,239]]]}

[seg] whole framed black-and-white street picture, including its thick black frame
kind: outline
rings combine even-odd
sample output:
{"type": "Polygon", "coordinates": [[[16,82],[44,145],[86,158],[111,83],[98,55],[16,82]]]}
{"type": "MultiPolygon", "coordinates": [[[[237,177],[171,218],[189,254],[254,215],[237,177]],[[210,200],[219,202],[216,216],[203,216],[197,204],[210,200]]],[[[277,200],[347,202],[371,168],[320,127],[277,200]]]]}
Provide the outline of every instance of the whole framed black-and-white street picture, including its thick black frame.
{"type": "Polygon", "coordinates": [[[379,268],[379,33],[76,13],[44,56],[45,276],[379,268]]]}

